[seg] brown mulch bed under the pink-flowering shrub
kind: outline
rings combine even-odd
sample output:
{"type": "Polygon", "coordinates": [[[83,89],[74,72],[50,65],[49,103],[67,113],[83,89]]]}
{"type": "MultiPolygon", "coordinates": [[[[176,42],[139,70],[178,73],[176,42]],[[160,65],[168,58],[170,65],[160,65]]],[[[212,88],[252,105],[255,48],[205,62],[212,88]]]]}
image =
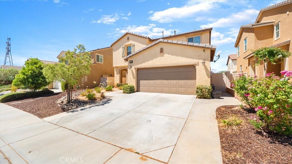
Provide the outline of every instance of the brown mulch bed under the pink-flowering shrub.
{"type": "Polygon", "coordinates": [[[221,119],[235,114],[243,123],[237,128],[225,128],[219,125],[223,163],[292,163],[292,136],[283,136],[256,130],[248,122],[253,111],[240,109],[238,106],[221,106],[216,109],[218,124],[221,119]]]}

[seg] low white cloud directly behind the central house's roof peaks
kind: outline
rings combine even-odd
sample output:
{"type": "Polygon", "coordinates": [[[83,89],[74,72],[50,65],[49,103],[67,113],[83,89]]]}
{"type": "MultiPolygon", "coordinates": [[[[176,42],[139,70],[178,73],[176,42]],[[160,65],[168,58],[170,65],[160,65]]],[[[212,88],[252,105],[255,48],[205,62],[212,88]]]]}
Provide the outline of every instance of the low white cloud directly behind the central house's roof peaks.
{"type": "Polygon", "coordinates": [[[174,30],[176,30],[176,32],[179,32],[178,29],[159,28],[159,27],[156,27],[155,24],[149,24],[145,26],[129,25],[122,29],[117,28],[115,29],[115,32],[110,33],[109,35],[110,37],[117,37],[117,36],[121,36],[121,34],[124,34],[126,32],[133,32],[136,34],[148,36],[150,38],[159,38],[159,37],[162,37],[162,31],[164,32],[164,36],[169,36],[174,33],[174,30]]]}

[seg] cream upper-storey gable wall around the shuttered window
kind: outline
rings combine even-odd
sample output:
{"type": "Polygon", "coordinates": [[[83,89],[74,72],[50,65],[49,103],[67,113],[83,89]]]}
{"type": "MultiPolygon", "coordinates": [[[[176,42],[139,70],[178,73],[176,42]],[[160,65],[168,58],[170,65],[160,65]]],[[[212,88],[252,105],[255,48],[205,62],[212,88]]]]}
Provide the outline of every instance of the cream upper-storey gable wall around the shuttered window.
{"type": "MultiPolygon", "coordinates": [[[[140,36],[126,34],[119,41],[112,45],[113,50],[113,66],[120,67],[126,66],[127,61],[125,61],[122,57],[122,46],[131,46],[131,44],[135,44],[135,51],[140,50],[141,48],[149,45],[151,42],[147,38],[143,38],[140,36]],[[127,41],[127,37],[129,37],[129,41],[127,41]]],[[[126,49],[126,47],[125,47],[126,49]]],[[[125,56],[127,54],[125,53],[125,56]]]]}

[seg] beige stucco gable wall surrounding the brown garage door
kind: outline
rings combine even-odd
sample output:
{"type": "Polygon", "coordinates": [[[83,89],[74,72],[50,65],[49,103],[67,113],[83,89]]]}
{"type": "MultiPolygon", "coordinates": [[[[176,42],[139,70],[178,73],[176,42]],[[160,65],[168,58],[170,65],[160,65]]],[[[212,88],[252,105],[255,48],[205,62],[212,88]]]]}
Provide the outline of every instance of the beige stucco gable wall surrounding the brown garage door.
{"type": "Polygon", "coordinates": [[[155,46],[128,58],[128,60],[133,60],[133,63],[128,63],[128,66],[132,67],[131,70],[128,69],[128,84],[134,85],[135,90],[137,90],[137,67],[153,67],[153,65],[159,64],[170,64],[175,66],[179,65],[179,63],[198,61],[199,65],[196,66],[196,84],[209,86],[210,52],[210,49],[197,48],[193,46],[183,46],[171,43],[156,44],[155,46]],[[162,55],[160,54],[160,48],[164,49],[164,54],[162,55]],[[205,53],[203,49],[205,49],[205,53]],[[202,66],[202,61],[206,62],[205,66],[202,66]]]}

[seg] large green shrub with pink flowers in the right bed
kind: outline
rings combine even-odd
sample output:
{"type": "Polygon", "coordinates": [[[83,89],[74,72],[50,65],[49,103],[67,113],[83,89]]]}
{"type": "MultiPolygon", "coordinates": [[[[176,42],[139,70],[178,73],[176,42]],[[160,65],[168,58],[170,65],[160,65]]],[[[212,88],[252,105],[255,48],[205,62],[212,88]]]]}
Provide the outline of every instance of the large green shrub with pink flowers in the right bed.
{"type": "Polygon", "coordinates": [[[235,91],[246,104],[254,108],[263,121],[263,130],[292,134],[292,83],[288,81],[292,75],[290,72],[281,71],[284,78],[272,72],[261,78],[239,77],[234,80],[235,91]]]}

